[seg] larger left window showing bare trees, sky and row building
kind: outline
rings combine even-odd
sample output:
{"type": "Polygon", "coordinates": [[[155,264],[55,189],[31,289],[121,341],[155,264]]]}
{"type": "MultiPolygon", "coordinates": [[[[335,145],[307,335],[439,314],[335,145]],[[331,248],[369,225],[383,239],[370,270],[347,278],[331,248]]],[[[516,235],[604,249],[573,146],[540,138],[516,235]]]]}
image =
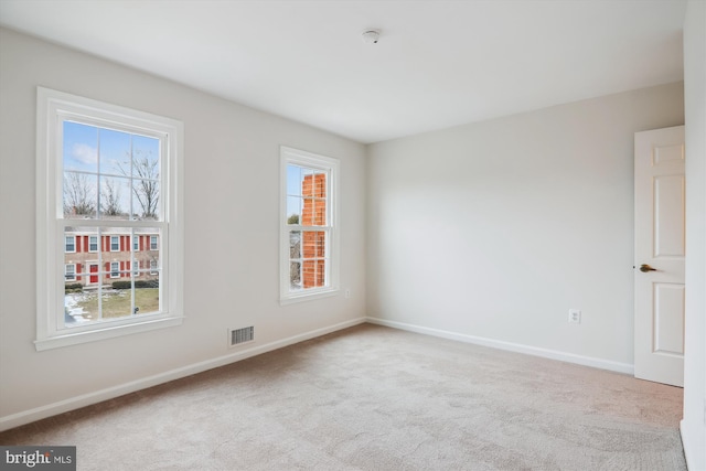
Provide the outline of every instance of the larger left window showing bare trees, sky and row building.
{"type": "Polygon", "coordinates": [[[38,350],[181,322],[181,148],[179,121],[38,89],[38,350]]]}

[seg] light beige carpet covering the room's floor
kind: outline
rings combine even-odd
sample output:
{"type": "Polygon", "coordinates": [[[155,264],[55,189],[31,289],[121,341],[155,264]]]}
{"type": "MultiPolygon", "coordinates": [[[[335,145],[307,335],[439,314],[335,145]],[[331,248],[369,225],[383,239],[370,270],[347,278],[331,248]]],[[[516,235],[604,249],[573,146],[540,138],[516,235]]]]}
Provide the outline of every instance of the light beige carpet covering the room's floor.
{"type": "Polygon", "coordinates": [[[685,470],[682,389],[363,324],[0,433],[79,470],[685,470]]]}

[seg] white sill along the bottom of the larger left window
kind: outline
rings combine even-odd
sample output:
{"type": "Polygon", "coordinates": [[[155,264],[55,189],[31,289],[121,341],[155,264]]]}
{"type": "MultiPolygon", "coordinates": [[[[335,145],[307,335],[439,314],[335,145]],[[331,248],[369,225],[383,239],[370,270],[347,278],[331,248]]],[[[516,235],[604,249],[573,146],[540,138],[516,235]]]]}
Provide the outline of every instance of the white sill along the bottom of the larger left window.
{"type": "Polygon", "coordinates": [[[124,325],[110,325],[98,330],[73,332],[60,334],[47,339],[34,341],[34,347],[38,352],[43,350],[60,349],[62,346],[78,345],[87,342],[95,342],[105,339],[115,339],[139,332],[148,332],[156,329],[181,325],[183,317],[146,319],[139,323],[130,323],[124,325]]]}

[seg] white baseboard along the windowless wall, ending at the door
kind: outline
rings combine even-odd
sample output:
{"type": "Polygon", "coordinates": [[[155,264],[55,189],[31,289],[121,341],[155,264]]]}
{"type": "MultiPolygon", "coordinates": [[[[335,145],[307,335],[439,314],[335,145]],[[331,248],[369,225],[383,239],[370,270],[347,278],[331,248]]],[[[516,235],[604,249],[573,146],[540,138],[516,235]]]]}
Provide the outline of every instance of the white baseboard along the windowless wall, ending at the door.
{"type": "Polygon", "coordinates": [[[634,375],[634,365],[628,363],[611,362],[608,360],[595,358],[591,356],[576,355],[574,353],[559,352],[556,350],[539,349],[520,343],[503,342],[501,340],[485,339],[475,335],[467,335],[457,332],[431,329],[421,325],[407,324],[404,322],[388,321],[377,318],[365,318],[366,322],[372,324],[385,325],[388,328],[406,330],[409,332],[424,333],[427,335],[440,336],[443,339],[456,340],[459,342],[473,343],[475,345],[490,346],[510,352],[524,353],[527,355],[542,356],[544,358],[558,360],[567,363],[576,363],[584,366],[592,366],[600,370],[609,370],[611,372],[625,373],[634,375]]]}

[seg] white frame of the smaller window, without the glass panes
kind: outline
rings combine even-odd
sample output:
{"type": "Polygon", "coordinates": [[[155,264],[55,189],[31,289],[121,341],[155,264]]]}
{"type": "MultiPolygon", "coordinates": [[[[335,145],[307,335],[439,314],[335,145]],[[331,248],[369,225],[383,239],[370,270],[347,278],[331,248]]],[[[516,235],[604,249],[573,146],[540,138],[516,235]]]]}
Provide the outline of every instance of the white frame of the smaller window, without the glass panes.
{"type": "MultiPolygon", "coordinates": [[[[339,171],[338,159],[307,152],[299,149],[282,146],[280,148],[280,251],[279,251],[279,302],[288,304],[292,302],[309,301],[329,296],[336,296],[339,288],[339,171]],[[320,288],[308,288],[292,291],[290,289],[290,264],[289,264],[289,232],[292,228],[301,227],[287,224],[287,167],[301,165],[310,169],[321,170],[328,174],[327,178],[327,225],[321,229],[328,232],[327,255],[329,258],[328,272],[325,274],[325,286],[320,288]]],[[[301,215],[300,215],[301,217],[301,215]]],[[[308,227],[308,226],[307,226],[308,227]]]]}

